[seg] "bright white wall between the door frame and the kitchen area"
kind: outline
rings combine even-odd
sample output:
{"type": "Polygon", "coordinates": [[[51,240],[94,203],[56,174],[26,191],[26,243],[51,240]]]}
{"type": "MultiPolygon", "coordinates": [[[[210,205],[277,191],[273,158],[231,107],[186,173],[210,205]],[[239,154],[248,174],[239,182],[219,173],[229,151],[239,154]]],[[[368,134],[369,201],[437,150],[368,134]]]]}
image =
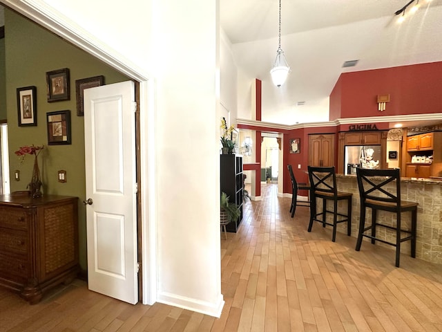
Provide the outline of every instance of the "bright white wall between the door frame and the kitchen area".
{"type": "Polygon", "coordinates": [[[157,231],[157,255],[151,257],[157,274],[149,276],[156,285],[153,300],[219,316],[218,0],[5,2],[28,17],[37,15],[52,31],[80,35],[85,47],[91,42],[114,66],[121,63],[155,81],[153,93],[143,90],[141,96],[151,106],[142,112],[155,122],[147,124],[155,130],[153,149],[142,156],[154,158],[156,169],[149,178],[156,187],[144,186],[156,188],[148,193],[155,214],[145,221],[157,231]]]}

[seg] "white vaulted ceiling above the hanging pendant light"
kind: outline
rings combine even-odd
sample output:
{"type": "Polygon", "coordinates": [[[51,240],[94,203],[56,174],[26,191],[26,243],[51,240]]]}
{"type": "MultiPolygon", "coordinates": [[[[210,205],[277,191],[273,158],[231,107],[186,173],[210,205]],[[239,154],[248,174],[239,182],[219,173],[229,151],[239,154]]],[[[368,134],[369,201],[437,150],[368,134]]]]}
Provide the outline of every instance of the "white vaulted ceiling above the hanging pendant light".
{"type": "MultiPolygon", "coordinates": [[[[269,74],[278,48],[278,0],[220,0],[220,23],[240,73],[262,80],[262,121],[327,121],[340,73],[442,61],[442,0],[420,0],[421,8],[397,24],[394,12],[408,1],[282,0],[281,48],[291,73],[280,88],[269,74]],[[354,59],[355,67],[342,68],[354,59]]],[[[241,117],[241,107],[238,112],[241,117]]]]}

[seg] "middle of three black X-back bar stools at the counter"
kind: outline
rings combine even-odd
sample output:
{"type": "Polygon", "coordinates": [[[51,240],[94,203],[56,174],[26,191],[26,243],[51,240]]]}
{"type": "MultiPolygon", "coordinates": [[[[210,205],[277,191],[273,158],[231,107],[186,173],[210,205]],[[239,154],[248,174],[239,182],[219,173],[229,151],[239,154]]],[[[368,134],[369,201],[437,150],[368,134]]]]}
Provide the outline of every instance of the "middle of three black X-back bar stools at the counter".
{"type": "Polygon", "coordinates": [[[350,192],[338,192],[336,187],[336,173],[334,167],[311,167],[309,166],[309,179],[311,186],[310,199],[310,223],[308,231],[314,221],[333,226],[332,241],[336,240],[336,226],[338,223],[347,222],[347,235],[352,234],[352,196],[350,192]],[[316,199],[323,199],[323,211],[318,212],[316,199]],[[347,201],[347,214],[338,212],[338,202],[347,201]],[[327,201],[333,202],[333,210],[327,210],[327,201]],[[333,214],[333,223],[327,222],[327,213],[333,214]],[[318,219],[322,216],[322,219],[318,219]],[[338,216],[341,217],[338,220],[338,216]]]}

